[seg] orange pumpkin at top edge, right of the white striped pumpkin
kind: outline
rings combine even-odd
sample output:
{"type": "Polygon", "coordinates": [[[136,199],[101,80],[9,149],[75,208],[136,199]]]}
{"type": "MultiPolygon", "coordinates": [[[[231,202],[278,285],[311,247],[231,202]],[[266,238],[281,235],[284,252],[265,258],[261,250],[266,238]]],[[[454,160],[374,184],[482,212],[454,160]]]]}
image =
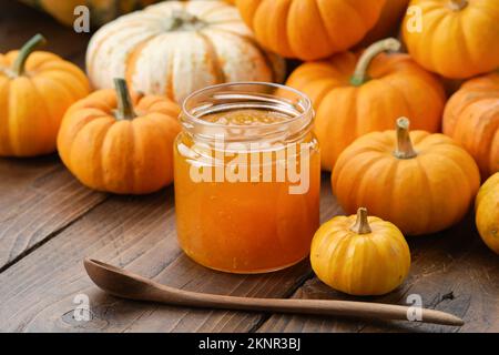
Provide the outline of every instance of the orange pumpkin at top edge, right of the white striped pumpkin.
{"type": "Polygon", "coordinates": [[[385,0],[236,0],[265,48],[287,58],[317,60],[359,42],[385,0]]]}

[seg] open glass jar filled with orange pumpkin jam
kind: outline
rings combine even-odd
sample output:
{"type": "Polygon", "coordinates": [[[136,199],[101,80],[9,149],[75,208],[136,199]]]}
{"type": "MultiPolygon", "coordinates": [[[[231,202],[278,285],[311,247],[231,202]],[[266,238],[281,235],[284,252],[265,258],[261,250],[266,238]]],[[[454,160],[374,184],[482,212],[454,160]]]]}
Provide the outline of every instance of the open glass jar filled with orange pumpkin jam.
{"type": "Polygon", "coordinates": [[[175,141],[179,242],[197,263],[264,273],[307,257],[319,226],[320,158],[310,101],[269,83],[206,88],[175,141]]]}

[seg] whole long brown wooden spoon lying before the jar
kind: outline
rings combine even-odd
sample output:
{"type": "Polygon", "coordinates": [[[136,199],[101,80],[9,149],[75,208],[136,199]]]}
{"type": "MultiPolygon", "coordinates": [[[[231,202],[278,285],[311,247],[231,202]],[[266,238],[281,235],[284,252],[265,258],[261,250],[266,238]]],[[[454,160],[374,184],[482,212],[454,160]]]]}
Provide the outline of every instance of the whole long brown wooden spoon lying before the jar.
{"type": "MultiPolygon", "coordinates": [[[[355,316],[363,318],[408,321],[409,307],[349,301],[252,298],[203,294],[159,284],[123,268],[85,258],[90,278],[103,291],[122,298],[152,301],[169,305],[234,311],[355,316]]],[[[462,325],[457,316],[434,310],[421,310],[426,323],[462,325]]]]}

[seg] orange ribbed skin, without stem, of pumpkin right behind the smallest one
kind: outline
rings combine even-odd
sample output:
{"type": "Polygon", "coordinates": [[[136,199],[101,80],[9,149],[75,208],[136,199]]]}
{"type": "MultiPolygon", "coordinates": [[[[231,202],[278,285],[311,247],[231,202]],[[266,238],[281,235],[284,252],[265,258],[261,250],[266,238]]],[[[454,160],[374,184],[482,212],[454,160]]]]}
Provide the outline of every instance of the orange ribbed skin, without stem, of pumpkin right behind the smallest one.
{"type": "Polygon", "coordinates": [[[480,185],[471,155],[450,138],[410,133],[418,155],[397,159],[395,131],[359,138],[339,156],[333,191],[347,213],[365,206],[404,234],[445,230],[467,213],[480,185]]]}

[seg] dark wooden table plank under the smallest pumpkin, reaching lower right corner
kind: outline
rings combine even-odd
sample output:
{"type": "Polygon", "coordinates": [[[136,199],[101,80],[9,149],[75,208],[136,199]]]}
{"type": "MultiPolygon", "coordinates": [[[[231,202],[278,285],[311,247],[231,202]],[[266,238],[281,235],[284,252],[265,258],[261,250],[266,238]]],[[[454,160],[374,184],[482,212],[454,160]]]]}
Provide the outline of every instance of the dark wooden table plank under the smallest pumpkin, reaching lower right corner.
{"type": "MultiPolygon", "coordinates": [[[[406,304],[418,294],[426,307],[465,320],[462,327],[408,322],[374,322],[334,317],[274,315],[259,332],[499,332],[499,260],[481,242],[472,215],[438,235],[409,239],[413,265],[408,280],[395,292],[368,300],[406,304]]],[[[295,298],[365,301],[335,292],[317,278],[307,281],[295,298]]]]}

